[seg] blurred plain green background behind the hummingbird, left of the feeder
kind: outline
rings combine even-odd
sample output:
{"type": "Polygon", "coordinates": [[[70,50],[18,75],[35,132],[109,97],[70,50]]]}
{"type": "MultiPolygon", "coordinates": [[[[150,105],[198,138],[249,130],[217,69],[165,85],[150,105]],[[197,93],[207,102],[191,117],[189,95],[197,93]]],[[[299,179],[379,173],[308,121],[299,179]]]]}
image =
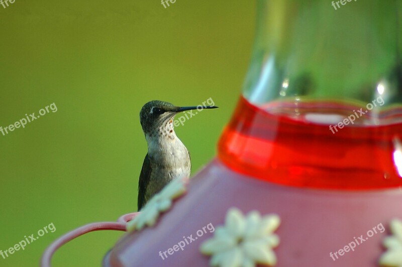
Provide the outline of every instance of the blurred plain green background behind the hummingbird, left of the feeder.
{"type": "MultiPolygon", "coordinates": [[[[53,233],[0,256],[37,266],[57,237],[136,211],[149,100],[220,108],[176,127],[192,174],[216,154],[237,102],[254,35],[253,1],[23,1],[0,6],[0,125],[55,103],[0,133],[0,249],[50,223],[53,233]]],[[[62,247],[53,266],[99,266],[122,232],[89,233],[62,247]]]]}

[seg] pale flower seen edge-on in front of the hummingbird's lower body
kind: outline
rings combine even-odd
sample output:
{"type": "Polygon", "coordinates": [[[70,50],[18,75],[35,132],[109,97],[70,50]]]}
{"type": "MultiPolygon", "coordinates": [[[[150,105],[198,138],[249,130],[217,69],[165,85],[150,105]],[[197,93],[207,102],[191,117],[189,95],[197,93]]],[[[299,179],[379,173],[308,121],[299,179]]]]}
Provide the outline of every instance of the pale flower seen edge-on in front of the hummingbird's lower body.
{"type": "Polygon", "coordinates": [[[127,231],[141,230],[145,225],[154,225],[159,214],[168,210],[172,201],[187,191],[187,183],[187,177],[179,177],[167,184],[148,201],[133,220],[127,223],[127,231]]]}

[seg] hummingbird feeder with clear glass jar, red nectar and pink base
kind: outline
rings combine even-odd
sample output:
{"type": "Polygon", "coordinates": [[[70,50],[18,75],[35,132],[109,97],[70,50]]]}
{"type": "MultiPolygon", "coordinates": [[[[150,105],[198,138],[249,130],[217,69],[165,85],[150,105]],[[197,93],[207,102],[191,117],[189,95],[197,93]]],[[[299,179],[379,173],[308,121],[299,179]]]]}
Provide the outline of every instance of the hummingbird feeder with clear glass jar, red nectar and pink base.
{"type": "Polygon", "coordinates": [[[378,265],[402,220],[401,55],[402,1],[257,0],[250,67],[217,157],[104,265],[206,266],[199,247],[213,232],[159,252],[224,225],[232,207],[279,216],[277,266],[378,265]]]}

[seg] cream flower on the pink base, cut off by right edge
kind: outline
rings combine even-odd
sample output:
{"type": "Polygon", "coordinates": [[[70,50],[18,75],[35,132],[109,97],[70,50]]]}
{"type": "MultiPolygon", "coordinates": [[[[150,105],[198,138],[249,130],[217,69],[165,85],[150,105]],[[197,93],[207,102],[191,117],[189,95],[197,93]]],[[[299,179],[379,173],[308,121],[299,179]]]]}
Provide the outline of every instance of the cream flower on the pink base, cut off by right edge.
{"type": "Polygon", "coordinates": [[[387,250],[381,255],[379,263],[381,266],[402,267],[402,220],[391,220],[389,228],[392,236],[384,238],[387,250]]]}

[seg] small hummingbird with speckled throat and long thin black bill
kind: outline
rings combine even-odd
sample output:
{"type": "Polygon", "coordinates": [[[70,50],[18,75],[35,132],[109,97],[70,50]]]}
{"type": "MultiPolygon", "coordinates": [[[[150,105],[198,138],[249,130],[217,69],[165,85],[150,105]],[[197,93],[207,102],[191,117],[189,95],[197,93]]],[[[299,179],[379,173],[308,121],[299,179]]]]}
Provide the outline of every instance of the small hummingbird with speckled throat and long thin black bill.
{"type": "Polygon", "coordinates": [[[174,132],[173,119],[177,113],[197,107],[199,108],[199,105],[179,107],[153,100],[141,108],[140,122],[148,143],[148,153],[138,182],[138,210],[174,178],[190,176],[190,154],[174,132]]]}

